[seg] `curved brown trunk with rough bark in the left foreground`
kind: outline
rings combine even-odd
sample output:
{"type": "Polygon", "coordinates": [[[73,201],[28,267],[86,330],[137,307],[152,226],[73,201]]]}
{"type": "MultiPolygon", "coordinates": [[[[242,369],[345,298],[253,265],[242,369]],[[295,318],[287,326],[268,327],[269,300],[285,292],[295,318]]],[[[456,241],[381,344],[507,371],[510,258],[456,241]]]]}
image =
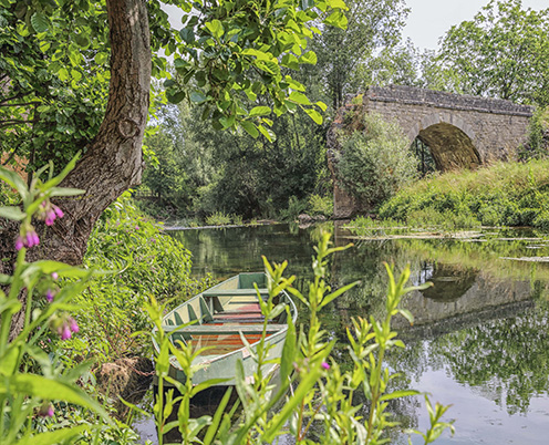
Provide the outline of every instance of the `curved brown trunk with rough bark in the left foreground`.
{"type": "MultiPolygon", "coordinates": [[[[40,248],[28,259],[48,258],[71,265],[82,262],[87,239],[103,210],[124,190],[139,184],[142,142],[151,91],[151,41],[144,0],[107,0],[111,40],[111,83],[105,117],[89,149],[61,186],[85,190],[76,199],[56,204],[65,216],[41,232],[40,248]]],[[[0,224],[0,272],[10,272],[19,225],[0,224]],[[8,255],[6,255],[8,253],[8,255]],[[11,257],[11,261],[6,258],[11,257]],[[2,270],[3,269],[3,270],[2,270]]],[[[22,320],[12,325],[18,331],[22,320]]]]}

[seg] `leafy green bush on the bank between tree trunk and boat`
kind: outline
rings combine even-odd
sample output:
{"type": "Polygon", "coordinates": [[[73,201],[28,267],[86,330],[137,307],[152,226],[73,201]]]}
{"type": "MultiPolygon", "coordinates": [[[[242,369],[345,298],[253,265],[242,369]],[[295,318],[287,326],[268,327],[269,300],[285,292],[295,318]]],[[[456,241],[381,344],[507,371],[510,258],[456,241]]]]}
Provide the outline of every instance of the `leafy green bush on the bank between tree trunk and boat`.
{"type": "Polygon", "coordinates": [[[144,304],[149,296],[165,302],[198,293],[204,282],[190,278],[190,252],[162,232],[124,194],[102,215],[89,239],[84,265],[110,273],[92,281],[75,298],[83,334],[65,342],[71,356],[112,361],[148,345],[134,332],[149,329],[144,304]]]}

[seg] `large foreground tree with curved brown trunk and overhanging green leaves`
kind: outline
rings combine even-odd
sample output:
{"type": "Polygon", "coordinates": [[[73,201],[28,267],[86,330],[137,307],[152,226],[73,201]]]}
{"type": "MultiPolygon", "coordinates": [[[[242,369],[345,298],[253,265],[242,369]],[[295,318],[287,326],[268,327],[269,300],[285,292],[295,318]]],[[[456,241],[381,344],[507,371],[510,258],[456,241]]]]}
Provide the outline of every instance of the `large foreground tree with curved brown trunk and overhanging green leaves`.
{"type": "Polygon", "coordinates": [[[151,75],[166,79],[172,102],[203,105],[217,128],[270,139],[271,110],[321,122],[325,105],[290,72],[317,61],[309,39],[345,27],[345,9],[342,0],[1,0],[2,151],[21,149],[31,164],[84,152],[65,182],[86,195],[64,203],[69,217],[43,255],[79,262],[99,215],[139,183],[151,75]],[[184,11],[182,29],[164,4],[184,11]]]}

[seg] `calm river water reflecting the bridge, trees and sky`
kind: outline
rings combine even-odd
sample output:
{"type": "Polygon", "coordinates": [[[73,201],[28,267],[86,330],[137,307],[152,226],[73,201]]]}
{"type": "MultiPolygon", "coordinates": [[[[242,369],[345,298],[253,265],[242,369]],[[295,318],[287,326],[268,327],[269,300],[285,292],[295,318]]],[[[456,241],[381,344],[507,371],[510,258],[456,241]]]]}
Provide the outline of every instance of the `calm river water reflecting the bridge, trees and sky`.
{"type": "MultiPolygon", "coordinates": [[[[549,257],[549,241],[528,231],[485,231],[464,240],[356,240],[327,227],[334,230],[336,245],[355,244],[332,258],[332,286],[361,281],[323,313],[325,328],[338,339],[339,360],[345,356],[351,318],[383,313],[383,261],[397,270],[410,263],[415,283],[435,286],[405,300],[415,323],[395,320],[407,348],[391,355],[389,364],[403,373],[400,385],[453,404],[446,418],[455,418],[456,434],[437,443],[549,443],[549,263],[525,260],[549,257]]],[[[265,255],[288,260],[289,272],[300,277],[298,286],[310,276],[319,234],[320,227],[288,225],[172,232],[193,252],[195,276],[221,280],[262,270],[265,255]]],[[[392,410],[406,427],[426,430],[421,397],[392,410]]],[[[405,436],[393,443],[405,443],[405,436]]],[[[423,442],[413,437],[413,443],[423,442]]]]}

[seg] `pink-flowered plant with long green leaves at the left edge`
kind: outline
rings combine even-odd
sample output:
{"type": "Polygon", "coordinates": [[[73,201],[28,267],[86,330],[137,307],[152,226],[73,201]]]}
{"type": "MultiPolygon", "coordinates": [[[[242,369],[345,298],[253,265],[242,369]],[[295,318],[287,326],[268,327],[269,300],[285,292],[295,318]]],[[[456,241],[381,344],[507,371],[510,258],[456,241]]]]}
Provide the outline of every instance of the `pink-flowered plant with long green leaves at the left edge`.
{"type": "Polygon", "coordinates": [[[53,416],[56,402],[90,408],[110,422],[101,405],[75,384],[87,365],[64,370],[53,355],[48,354],[44,341],[48,328],[61,340],[79,332],[76,320],[70,314],[74,309],[70,302],[82,292],[94,272],[58,261],[25,260],[28,249],[40,244],[33,218],[52,225],[63,217],[63,211],[50,198],[83,193],[58,187],[75,162],[76,158],[59,176],[53,176],[52,165],[42,168],[29,187],[14,172],[0,167],[0,179],[21,197],[20,206],[0,207],[0,217],[21,221],[14,240],[13,272],[0,275],[1,444],[53,444],[91,430],[86,424],[40,432],[39,417],[53,416]],[[46,179],[42,180],[42,176],[46,179]],[[61,278],[69,280],[59,286],[56,282],[61,278]],[[23,317],[20,328],[13,322],[15,315],[23,317]]]}

